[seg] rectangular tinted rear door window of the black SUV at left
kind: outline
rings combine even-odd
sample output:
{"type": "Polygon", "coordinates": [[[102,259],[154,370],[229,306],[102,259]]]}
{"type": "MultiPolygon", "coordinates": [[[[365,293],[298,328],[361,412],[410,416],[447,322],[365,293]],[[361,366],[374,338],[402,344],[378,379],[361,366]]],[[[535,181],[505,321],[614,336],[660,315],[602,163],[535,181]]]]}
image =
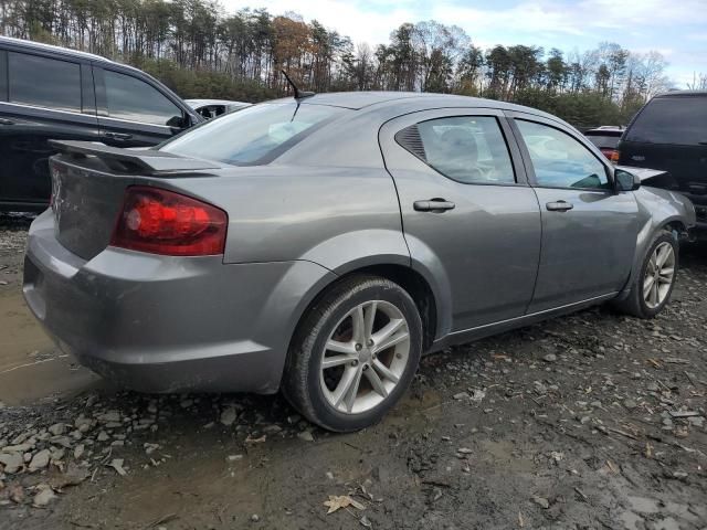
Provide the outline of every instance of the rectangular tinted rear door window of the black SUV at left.
{"type": "Polygon", "coordinates": [[[81,66],[68,61],[8,53],[10,102],[81,113],[81,66]]]}

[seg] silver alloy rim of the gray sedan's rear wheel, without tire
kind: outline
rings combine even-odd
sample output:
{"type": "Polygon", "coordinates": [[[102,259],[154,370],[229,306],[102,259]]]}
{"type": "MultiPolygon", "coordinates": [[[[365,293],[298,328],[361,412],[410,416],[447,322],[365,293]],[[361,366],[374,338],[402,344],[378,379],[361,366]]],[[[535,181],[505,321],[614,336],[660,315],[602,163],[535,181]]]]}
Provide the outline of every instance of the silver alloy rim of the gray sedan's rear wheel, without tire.
{"type": "Polygon", "coordinates": [[[324,396],[338,412],[370,411],[397,386],[409,358],[410,331],[400,309],[383,300],[360,304],[325,344],[319,377],[324,396]]]}

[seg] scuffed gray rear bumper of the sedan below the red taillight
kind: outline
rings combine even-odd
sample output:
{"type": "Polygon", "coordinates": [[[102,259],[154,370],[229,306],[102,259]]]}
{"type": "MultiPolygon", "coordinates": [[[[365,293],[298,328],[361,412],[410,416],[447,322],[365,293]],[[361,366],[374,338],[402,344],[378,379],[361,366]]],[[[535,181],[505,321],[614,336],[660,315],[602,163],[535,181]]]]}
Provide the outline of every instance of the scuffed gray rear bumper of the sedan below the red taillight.
{"type": "Polygon", "coordinates": [[[23,292],[63,350],[124,386],[272,393],[299,315],[333,278],[310,262],[225,265],[113,247],[85,262],[45,212],[30,229],[23,292]]]}

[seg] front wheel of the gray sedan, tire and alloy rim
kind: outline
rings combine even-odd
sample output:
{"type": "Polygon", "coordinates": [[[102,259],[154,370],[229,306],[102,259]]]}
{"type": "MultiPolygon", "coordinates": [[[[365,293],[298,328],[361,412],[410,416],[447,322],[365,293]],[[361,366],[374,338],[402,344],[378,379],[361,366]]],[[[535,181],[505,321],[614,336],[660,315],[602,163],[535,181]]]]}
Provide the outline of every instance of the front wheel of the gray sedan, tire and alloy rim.
{"type": "Polygon", "coordinates": [[[678,269],[679,246],[669,232],[659,232],[643,256],[625,300],[615,307],[639,318],[654,318],[671,300],[678,269]]]}

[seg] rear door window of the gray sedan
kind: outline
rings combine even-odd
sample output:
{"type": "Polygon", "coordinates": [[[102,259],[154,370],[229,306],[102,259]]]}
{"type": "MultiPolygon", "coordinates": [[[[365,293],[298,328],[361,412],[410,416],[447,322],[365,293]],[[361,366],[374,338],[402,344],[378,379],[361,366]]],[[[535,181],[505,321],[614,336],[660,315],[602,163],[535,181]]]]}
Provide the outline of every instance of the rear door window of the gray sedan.
{"type": "MultiPolygon", "coordinates": [[[[496,118],[455,116],[421,121],[413,127],[423,151],[411,152],[445,177],[468,184],[516,181],[496,118]]],[[[404,142],[401,145],[405,147],[404,142]]]]}

